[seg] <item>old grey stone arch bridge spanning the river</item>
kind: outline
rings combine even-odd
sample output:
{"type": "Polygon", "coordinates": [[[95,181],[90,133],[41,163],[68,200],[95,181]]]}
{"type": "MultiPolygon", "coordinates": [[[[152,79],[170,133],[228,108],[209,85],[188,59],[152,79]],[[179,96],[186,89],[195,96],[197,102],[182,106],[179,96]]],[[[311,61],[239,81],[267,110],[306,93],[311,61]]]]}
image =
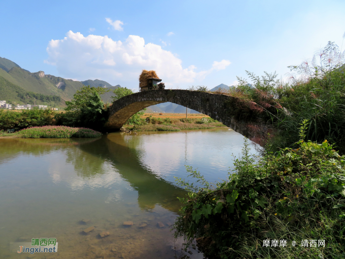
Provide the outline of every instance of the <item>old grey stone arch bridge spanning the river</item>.
{"type": "Polygon", "coordinates": [[[265,132],[272,131],[272,122],[264,115],[241,114],[236,108],[236,98],[224,94],[213,94],[189,90],[150,90],[131,94],[113,102],[105,127],[120,129],[135,113],[151,105],[171,102],[199,111],[222,122],[243,136],[260,143],[265,132]],[[254,127],[253,127],[254,126],[254,127]],[[258,126],[260,130],[257,130],[258,126]]]}

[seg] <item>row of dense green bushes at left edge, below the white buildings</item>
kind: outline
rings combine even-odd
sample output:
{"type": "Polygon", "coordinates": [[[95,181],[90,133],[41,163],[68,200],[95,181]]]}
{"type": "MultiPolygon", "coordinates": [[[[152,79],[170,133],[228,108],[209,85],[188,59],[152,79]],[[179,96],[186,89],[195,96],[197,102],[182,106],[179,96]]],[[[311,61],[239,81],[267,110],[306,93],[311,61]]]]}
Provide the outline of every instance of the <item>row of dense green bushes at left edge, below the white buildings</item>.
{"type": "Polygon", "coordinates": [[[23,110],[22,112],[0,110],[0,129],[24,129],[33,126],[51,125],[54,121],[54,111],[23,110]]]}

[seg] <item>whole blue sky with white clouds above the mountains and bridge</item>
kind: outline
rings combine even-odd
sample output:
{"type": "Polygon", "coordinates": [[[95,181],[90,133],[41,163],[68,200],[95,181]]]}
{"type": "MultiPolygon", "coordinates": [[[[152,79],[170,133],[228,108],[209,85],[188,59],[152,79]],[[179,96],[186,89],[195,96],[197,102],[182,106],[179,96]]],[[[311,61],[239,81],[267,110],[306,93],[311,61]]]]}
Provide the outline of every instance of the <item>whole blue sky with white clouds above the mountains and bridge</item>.
{"type": "Polygon", "coordinates": [[[344,14],[344,0],[6,1],[0,57],[74,80],[138,88],[153,69],[170,88],[212,88],[341,47],[344,14]]]}

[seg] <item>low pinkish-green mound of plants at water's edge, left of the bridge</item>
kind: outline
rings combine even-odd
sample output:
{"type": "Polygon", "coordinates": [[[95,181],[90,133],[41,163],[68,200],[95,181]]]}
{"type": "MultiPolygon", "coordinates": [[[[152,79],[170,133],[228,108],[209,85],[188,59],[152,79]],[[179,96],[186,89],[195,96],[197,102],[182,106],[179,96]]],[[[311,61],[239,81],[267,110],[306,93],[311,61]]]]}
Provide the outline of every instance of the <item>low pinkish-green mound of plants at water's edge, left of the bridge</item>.
{"type": "Polygon", "coordinates": [[[96,138],[102,133],[86,128],[70,128],[66,126],[32,127],[19,131],[22,138],[96,138]]]}

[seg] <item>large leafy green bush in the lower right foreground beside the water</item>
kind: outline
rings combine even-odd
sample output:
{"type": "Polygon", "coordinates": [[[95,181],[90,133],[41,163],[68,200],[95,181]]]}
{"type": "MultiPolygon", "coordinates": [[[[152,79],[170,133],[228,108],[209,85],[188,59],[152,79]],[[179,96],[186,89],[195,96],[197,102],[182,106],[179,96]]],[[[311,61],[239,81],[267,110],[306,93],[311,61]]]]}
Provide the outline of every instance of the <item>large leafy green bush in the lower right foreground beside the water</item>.
{"type": "MultiPolygon", "coordinates": [[[[212,187],[187,167],[202,187],[177,179],[189,191],[174,224],[175,237],[195,238],[207,258],[345,258],[345,158],[324,141],[262,157],[248,144],[226,181],[212,187]],[[287,247],[263,247],[263,240],[287,240],[287,247]],[[326,240],[323,248],[301,247],[302,240],[326,240]],[[292,247],[291,242],[297,246],[292,247]]],[[[267,147],[269,150],[270,147],[267,147]]]]}

